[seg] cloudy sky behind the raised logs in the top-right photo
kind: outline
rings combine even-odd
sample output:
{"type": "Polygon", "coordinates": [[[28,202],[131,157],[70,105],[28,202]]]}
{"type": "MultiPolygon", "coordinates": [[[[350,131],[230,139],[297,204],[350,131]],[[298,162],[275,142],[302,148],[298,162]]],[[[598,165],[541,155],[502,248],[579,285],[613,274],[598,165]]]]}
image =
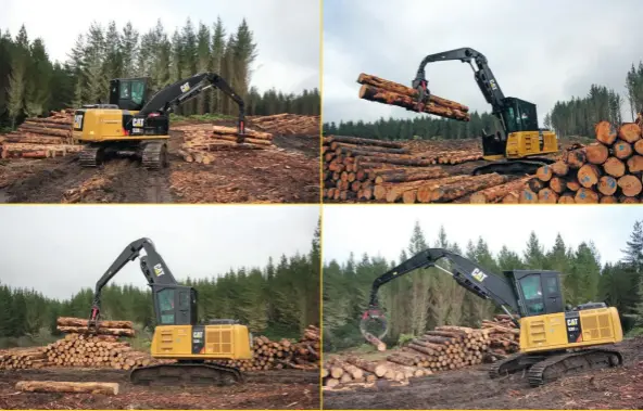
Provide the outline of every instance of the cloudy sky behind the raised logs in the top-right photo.
{"type": "MultiPolygon", "coordinates": [[[[487,56],[506,97],[535,103],[541,124],[592,84],[625,98],[627,72],[643,60],[642,12],[641,0],[324,0],[324,120],[423,116],[358,99],[357,76],[411,86],[426,55],[463,47],[487,56]]],[[[490,111],[468,64],[426,74],[436,95],[490,111]]]]}

